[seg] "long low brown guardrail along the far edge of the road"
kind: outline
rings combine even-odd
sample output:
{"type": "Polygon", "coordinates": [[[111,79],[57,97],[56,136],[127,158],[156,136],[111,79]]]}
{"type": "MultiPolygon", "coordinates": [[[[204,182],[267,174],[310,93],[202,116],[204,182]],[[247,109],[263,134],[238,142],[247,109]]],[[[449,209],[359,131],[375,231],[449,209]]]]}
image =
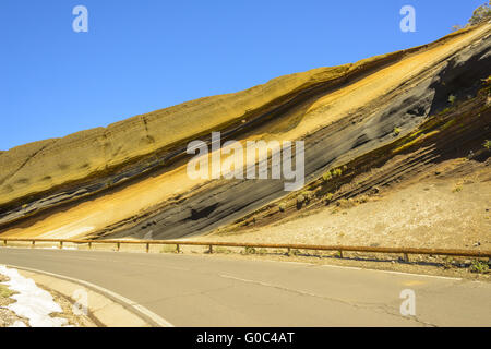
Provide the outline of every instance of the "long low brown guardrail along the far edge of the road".
{"type": "Polygon", "coordinates": [[[368,252],[368,253],[388,253],[403,254],[405,261],[409,261],[410,254],[420,255],[446,255],[446,256],[465,256],[465,257],[491,257],[491,251],[469,251],[469,250],[451,250],[451,249],[412,249],[412,248],[369,248],[369,246],[343,246],[343,245],[313,245],[313,244],[272,244],[272,243],[237,243],[237,242],[211,242],[211,241],[171,241],[171,240],[63,240],[63,239],[28,239],[28,238],[0,238],[3,246],[8,242],[31,242],[35,248],[36,242],[55,242],[60,249],[63,243],[87,244],[92,249],[93,244],[116,244],[117,251],[121,244],[144,244],[146,252],[154,244],[176,245],[176,252],[180,252],[181,245],[200,245],[208,246],[209,253],[213,253],[213,246],[226,248],[253,248],[253,249],[286,249],[288,253],[291,250],[311,250],[311,251],[337,251],[343,257],[343,252],[368,252]]]}

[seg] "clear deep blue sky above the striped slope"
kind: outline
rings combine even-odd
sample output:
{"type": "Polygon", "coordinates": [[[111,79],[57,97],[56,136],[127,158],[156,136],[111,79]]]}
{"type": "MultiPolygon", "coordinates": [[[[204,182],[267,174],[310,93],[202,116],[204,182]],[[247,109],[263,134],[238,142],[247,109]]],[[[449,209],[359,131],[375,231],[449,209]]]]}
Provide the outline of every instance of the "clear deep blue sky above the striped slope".
{"type": "Polygon", "coordinates": [[[0,149],[427,44],[484,2],[1,0],[0,149]],[[399,29],[405,4],[416,33],[399,29]]]}

